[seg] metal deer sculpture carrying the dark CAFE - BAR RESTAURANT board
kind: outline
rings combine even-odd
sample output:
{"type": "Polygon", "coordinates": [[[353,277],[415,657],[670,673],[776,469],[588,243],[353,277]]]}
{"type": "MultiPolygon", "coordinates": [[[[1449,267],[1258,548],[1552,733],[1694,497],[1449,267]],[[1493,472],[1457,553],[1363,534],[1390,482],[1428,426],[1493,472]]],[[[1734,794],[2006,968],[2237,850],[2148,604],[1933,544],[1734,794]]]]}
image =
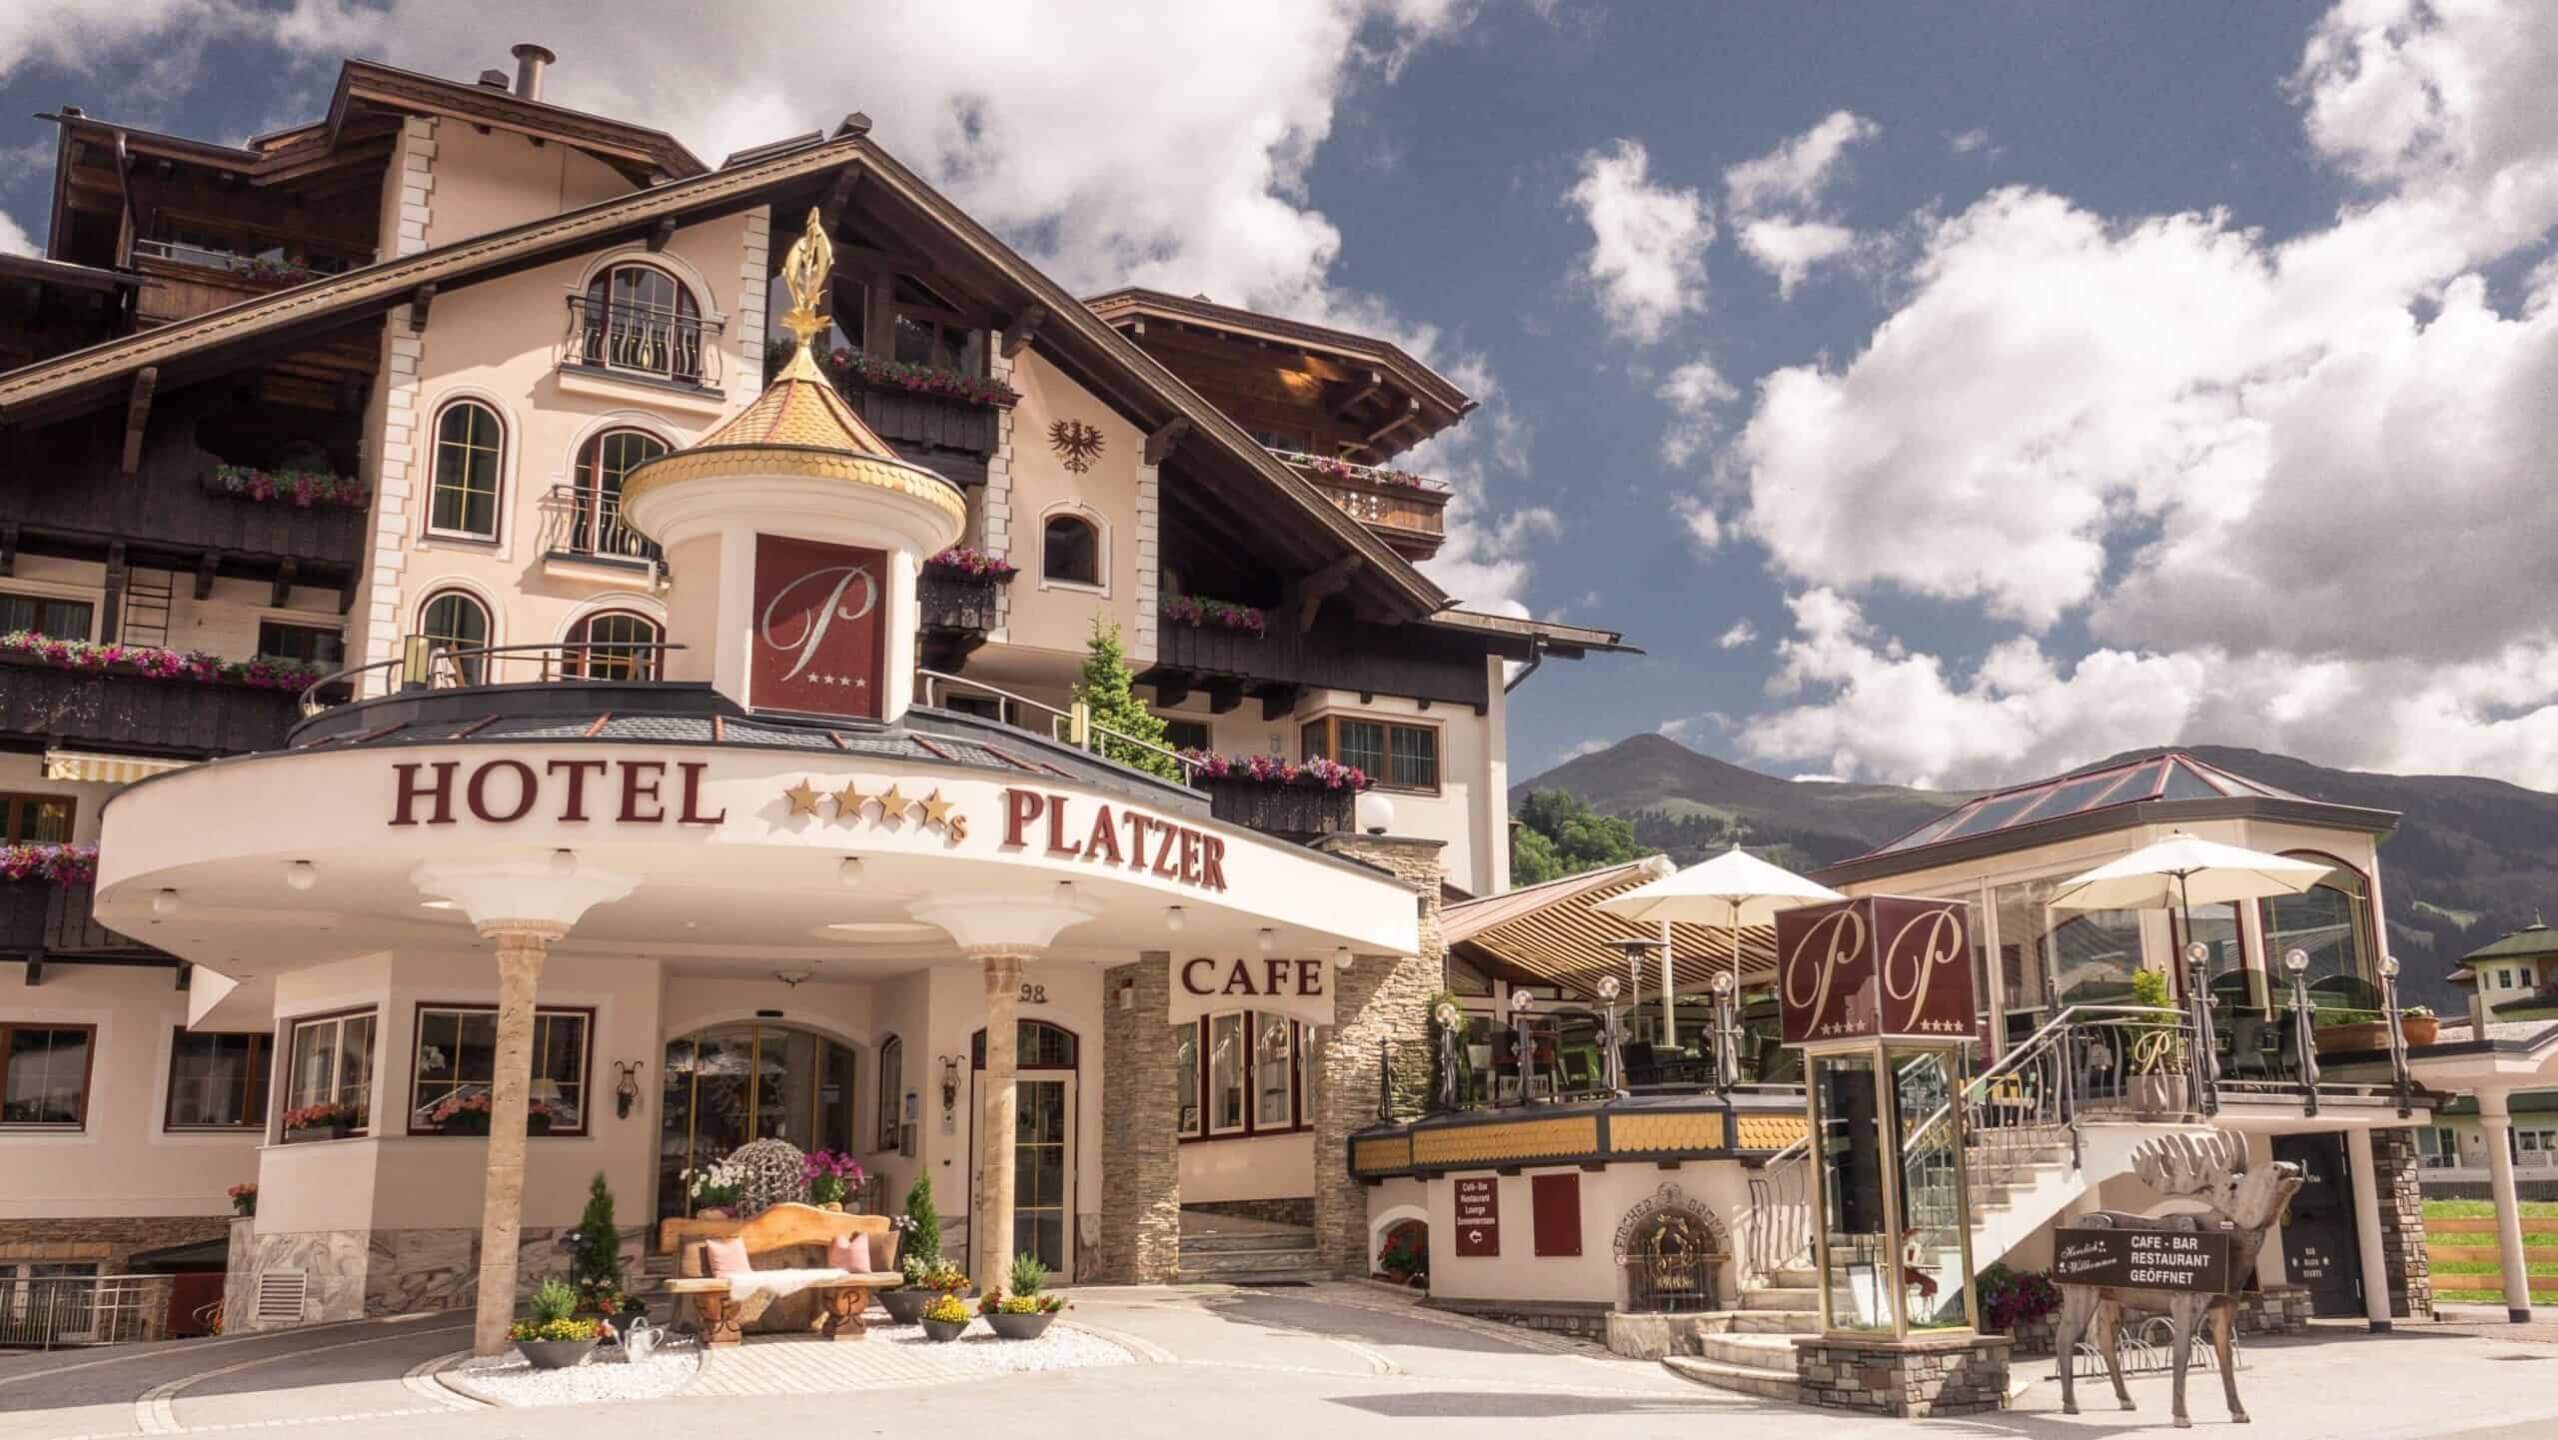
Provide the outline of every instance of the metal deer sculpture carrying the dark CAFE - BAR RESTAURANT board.
{"type": "MultiPolygon", "coordinates": [[[[2251,1171],[2246,1164],[2246,1138],[2231,1131],[2210,1131],[2208,1136],[2159,1136],[2131,1154],[2131,1169],[2159,1194],[2202,1200],[2213,1212],[2146,1217],[2105,1210],[2077,1220],[2077,1228],[2228,1235],[2231,1289],[2238,1289],[2238,1276],[2256,1269],[2256,1253],[2264,1248],[2266,1228],[2282,1215],[2282,1207],[2289,1205],[2292,1194],[2300,1189],[2297,1164],[2274,1161],[2251,1171]]],[[[2098,1353],[2105,1356],[2105,1373],[2113,1379],[2113,1397],[2123,1402],[2123,1409],[2133,1407],[2131,1391],[2123,1389],[2118,1330],[2123,1310],[2138,1307],[2167,1312],[2169,1325],[2174,1325],[2177,1333],[2177,1427],[2185,1430],[2192,1425],[2192,1420],[2185,1417],[2185,1371],[2192,1363],[2195,1333],[2202,1327],[2205,1315],[2213,1322],[2213,1350],[2220,1358],[2220,1386],[2228,1391],[2231,1420],[2246,1425],[2246,1407],[2238,1404],[2238,1358],[2231,1353],[2231,1333],[2238,1325],[2236,1294],[2151,1289],[2136,1284],[2069,1284],[2067,1279],[2059,1279],[2059,1289],[2062,1322],[2054,1348],[2059,1350],[2062,1366],[2062,1414],[2077,1414],[2072,1371],[2077,1368],[2075,1350],[2082,1335],[2092,1338],[2098,1353]]]]}

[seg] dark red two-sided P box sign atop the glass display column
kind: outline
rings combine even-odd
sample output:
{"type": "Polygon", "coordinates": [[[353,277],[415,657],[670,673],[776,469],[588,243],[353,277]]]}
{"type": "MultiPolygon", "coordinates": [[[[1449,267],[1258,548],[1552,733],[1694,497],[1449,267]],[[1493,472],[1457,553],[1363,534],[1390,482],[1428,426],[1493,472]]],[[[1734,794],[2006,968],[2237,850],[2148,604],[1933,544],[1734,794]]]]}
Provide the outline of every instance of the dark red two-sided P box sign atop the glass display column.
{"type": "Polygon", "coordinates": [[[1778,911],[1785,1044],[1970,1038],[1972,936],[1959,900],[1860,895],[1778,911]]]}

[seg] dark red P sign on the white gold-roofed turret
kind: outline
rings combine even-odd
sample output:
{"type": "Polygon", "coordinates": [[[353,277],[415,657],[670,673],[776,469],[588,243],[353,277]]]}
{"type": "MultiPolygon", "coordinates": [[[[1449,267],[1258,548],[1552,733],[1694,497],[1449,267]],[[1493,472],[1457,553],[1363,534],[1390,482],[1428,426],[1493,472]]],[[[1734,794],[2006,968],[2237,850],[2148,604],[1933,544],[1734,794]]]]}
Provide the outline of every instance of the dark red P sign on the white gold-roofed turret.
{"type": "Polygon", "coordinates": [[[888,555],[755,537],[755,708],[880,719],[888,555]]]}

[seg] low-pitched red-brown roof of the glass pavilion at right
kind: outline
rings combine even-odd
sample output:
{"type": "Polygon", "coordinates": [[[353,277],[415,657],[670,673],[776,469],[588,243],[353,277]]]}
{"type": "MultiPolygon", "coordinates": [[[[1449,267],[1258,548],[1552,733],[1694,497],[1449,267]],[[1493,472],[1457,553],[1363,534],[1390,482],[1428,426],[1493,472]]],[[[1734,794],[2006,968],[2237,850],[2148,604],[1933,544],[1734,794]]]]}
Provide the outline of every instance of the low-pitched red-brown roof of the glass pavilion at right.
{"type": "Polygon", "coordinates": [[[1990,790],[1855,859],[1819,870],[1826,885],[1926,870],[2138,824],[2266,816],[2387,834],[2397,813],[2335,806],[2233,775],[2182,749],[2105,760],[2067,775],[1990,790]]]}

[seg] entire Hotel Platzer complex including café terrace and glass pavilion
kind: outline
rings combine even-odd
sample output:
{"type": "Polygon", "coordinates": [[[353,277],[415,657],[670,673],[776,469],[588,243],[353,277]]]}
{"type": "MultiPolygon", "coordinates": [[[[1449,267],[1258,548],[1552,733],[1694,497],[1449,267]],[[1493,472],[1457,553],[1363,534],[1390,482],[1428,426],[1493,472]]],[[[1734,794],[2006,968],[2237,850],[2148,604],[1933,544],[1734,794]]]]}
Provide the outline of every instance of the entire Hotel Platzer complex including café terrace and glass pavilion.
{"type": "MultiPolygon", "coordinates": [[[[0,258],[0,1284],[494,1348],[596,1174],[663,1266],[686,1171],[788,1141],[931,1179],[980,1281],[1427,1274],[1737,1371],[1809,1322],[1773,936],[1596,911],[1658,859],[1509,888],[1507,693],[1624,642],[1417,570],[1450,496],[1394,460],[1463,391],[1077,299],[862,115],[711,166],[517,61],[348,61],[243,148],[54,115],[0,258]],[[1164,747],[1072,698],[1113,632],[1164,747]]],[[[1977,1264],[2220,1125],[2320,1184],[2266,1322],[2430,1310],[2407,1046],[2320,1072],[2302,1018],[2381,995],[2392,824],[2154,755],[1821,875],[1965,916],[1977,1264]],[[2052,911],[2177,826],[2335,872],[2052,911]],[[2141,972],[2218,1015],[2172,1090],[2141,972]]]]}

